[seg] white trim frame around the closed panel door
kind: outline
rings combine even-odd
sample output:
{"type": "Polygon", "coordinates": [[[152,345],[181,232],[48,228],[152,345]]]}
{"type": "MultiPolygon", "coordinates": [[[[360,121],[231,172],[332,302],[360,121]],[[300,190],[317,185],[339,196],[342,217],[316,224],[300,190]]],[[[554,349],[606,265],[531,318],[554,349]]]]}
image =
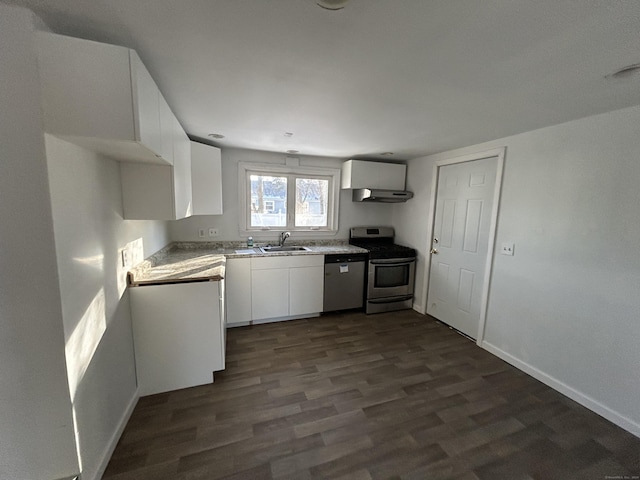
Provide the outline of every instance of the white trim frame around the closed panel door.
{"type": "Polygon", "coordinates": [[[487,307],[489,304],[489,286],[491,283],[491,267],[493,266],[493,255],[495,251],[496,230],[498,226],[498,210],[500,207],[500,192],[502,187],[502,172],[504,170],[504,158],[507,147],[494,148],[491,150],[484,150],[476,153],[469,153],[467,155],[455,156],[438,160],[433,165],[433,178],[431,181],[431,198],[429,202],[429,223],[427,226],[427,239],[426,245],[426,262],[424,272],[424,311],[427,312],[429,305],[429,281],[431,280],[431,257],[429,251],[432,248],[434,223],[436,216],[436,198],[438,194],[438,176],[440,174],[440,168],[448,165],[454,165],[456,163],[467,163],[475,160],[484,160],[485,158],[497,157],[496,168],[496,184],[493,191],[493,206],[491,208],[491,224],[489,227],[489,244],[487,252],[487,263],[485,264],[483,285],[482,285],[482,299],[480,303],[480,319],[478,321],[478,334],[476,335],[476,344],[482,345],[484,339],[484,329],[487,320],[487,307]]]}

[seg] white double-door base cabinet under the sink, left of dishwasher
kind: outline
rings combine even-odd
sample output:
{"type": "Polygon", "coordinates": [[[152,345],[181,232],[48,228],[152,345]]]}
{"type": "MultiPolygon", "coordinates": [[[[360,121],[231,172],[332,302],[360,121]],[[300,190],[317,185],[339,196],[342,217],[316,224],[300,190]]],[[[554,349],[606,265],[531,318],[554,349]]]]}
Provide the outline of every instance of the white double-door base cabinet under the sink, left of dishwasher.
{"type": "Polygon", "coordinates": [[[321,312],[323,267],[323,255],[251,258],[252,320],[321,312]]]}

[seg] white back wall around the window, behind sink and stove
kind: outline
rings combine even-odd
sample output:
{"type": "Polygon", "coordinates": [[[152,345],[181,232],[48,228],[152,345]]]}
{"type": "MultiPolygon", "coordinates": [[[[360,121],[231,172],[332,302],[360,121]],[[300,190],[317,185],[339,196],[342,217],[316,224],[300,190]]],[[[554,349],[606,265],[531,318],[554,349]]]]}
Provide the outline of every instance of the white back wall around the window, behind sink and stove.
{"type": "MultiPolygon", "coordinates": [[[[260,152],[255,150],[222,149],[222,203],[223,215],[196,215],[171,223],[171,239],[174,241],[202,241],[198,238],[198,228],[218,228],[220,235],[205,240],[236,241],[246,240],[239,233],[238,208],[238,162],[284,164],[284,154],[260,152]]],[[[300,156],[300,165],[314,167],[339,168],[344,160],[329,157],[300,156]]],[[[340,192],[339,230],[328,239],[349,238],[349,228],[358,225],[390,225],[393,207],[390,204],[354,203],[351,201],[351,190],[340,192]]],[[[253,235],[256,241],[275,241],[274,233],[253,235]]],[[[293,233],[292,239],[303,235],[293,233]]],[[[306,238],[310,238],[307,236],[306,238]]],[[[313,234],[311,234],[311,238],[313,234]]],[[[319,238],[316,236],[316,238],[319,238]]],[[[323,237],[325,238],[325,237],[323,237]]]]}

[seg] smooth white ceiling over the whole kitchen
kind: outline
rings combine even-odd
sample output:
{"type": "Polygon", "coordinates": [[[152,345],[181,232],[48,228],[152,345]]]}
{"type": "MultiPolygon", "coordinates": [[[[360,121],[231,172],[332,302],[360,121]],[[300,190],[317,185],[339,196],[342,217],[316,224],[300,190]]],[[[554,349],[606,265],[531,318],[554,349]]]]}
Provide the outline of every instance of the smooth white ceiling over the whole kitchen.
{"type": "Polygon", "coordinates": [[[136,49],[222,147],[407,159],[640,104],[640,74],[605,79],[640,63],[638,0],[8,3],[136,49]]]}

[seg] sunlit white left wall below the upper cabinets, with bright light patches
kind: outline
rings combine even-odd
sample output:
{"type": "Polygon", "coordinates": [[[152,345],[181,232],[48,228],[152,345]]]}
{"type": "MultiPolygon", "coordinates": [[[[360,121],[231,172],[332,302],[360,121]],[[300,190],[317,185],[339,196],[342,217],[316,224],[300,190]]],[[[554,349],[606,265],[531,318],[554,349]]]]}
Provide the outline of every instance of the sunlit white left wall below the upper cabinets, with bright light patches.
{"type": "Polygon", "coordinates": [[[47,135],[47,163],[62,294],[67,370],[82,476],[106,466],[135,405],[131,264],[168,243],[166,222],[122,219],[118,162],[47,135]]]}

